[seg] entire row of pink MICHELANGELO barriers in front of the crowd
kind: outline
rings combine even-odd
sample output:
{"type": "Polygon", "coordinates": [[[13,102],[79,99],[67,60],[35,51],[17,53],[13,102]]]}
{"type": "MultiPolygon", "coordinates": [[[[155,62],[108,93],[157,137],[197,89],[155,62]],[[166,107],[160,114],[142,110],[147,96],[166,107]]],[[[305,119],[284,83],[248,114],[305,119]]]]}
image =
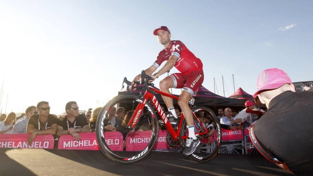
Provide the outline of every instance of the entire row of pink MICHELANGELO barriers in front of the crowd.
{"type": "MultiPolygon", "coordinates": [[[[167,130],[159,130],[156,144],[153,151],[169,151],[176,150],[167,145],[167,130]]],[[[125,145],[126,151],[136,151],[142,145],[146,145],[151,131],[143,131],[132,133],[123,143],[123,135],[121,132],[105,132],[106,143],[112,150],[123,150],[125,145]]],[[[27,140],[30,134],[0,134],[0,148],[54,148],[54,138],[52,135],[38,135],[34,138],[33,144],[28,146],[27,140]]],[[[249,128],[244,130],[225,130],[222,129],[222,145],[220,153],[251,153],[251,141],[249,141],[249,128]],[[239,146],[239,147],[238,147],[239,146]],[[240,150],[242,152],[229,152],[240,150]],[[245,152],[244,152],[245,150],[245,152]]],[[[75,141],[71,135],[63,135],[58,139],[58,149],[74,149],[74,150],[100,150],[95,133],[80,133],[80,141],[75,141]]],[[[211,141],[216,140],[216,136],[211,136],[211,141]]],[[[201,142],[206,143],[207,139],[201,142]]],[[[179,148],[179,146],[178,146],[179,148]]]]}

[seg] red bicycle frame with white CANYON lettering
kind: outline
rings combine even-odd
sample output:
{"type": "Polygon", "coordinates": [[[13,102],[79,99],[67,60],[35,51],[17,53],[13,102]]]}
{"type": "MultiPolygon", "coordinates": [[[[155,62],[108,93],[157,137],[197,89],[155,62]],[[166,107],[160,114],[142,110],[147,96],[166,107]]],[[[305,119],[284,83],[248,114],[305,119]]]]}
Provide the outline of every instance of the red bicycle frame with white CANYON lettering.
{"type": "MultiPolygon", "coordinates": [[[[172,99],[175,99],[175,100],[178,100],[178,97],[177,96],[174,96],[172,94],[167,94],[165,92],[162,92],[162,91],[159,91],[157,89],[154,89],[153,87],[149,87],[152,91],[155,91],[156,93],[159,93],[163,96],[167,96],[167,97],[170,97],[172,99]]],[[[144,96],[143,96],[143,100],[142,102],[139,102],[138,106],[136,107],[136,110],[133,114],[133,116],[131,117],[130,121],[128,122],[127,124],[127,127],[132,127],[134,128],[137,124],[137,120],[138,118],[141,116],[141,113],[143,111],[143,108],[145,107],[146,103],[148,102],[148,100],[151,100],[153,106],[155,107],[156,111],[158,112],[159,116],[161,117],[162,121],[164,122],[167,130],[171,133],[172,135],[172,138],[174,141],[178,141],[178,137],[181,136],[180,132],[181,132],[181,127],[182,127],[182,119],[184,118],[183,114],[181,116],[181,119],[180,119],[180,122],[178,124],[178,129],[177,131],[175,132],[174,128],[172,127],[171,123],[169,122],[167,116],[165,115],[163,109],[161,108],[161,105],[159,103],[159,101],[156,99],[156,96],[154,95],[154,93],[151,93],[150,91],[146,90],[144,96]]],[[[194,113],[192,113],[193,116],[195,116],[194,113]]],[[[196,120],[197,122],[200,122],[198,117],[196,117],[196,120]]],[[[156,118],[156,117],[153,117],[153,118],[156,118]]],[[[203,134],[207,134],[208,133],[208,130],[203,126],[202,123],[200,123],[202,128],[205,130],[204,132],[196,132],[195,134],[196,135],[203,135],[203,134]]],[[[199,130],[199,128],[195,125],[195,128],[197,129],[197,131],[199,130]]],[[[184,139],[187,139],[188,136],[182,136],[181,139],[184,140],[184,139]]]]}

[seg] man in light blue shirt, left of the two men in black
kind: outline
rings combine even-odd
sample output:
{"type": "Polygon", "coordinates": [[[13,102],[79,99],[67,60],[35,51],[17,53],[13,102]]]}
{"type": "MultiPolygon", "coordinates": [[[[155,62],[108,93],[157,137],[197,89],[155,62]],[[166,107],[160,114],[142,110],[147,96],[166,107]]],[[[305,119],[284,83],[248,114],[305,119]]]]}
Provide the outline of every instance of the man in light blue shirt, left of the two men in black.
{"type": "Polygon", "coordinates": [[[13,127],[12,133],[27,133],[26,132],[26,125],[28,123],[28,120],[29,120],[31,115],[37,114],[37,113],[38,112],[37,112],[36,106],[29,106],[25,111],[26,116],[18,119],[18,121],[15,123],[15,125],[13,127]]]}

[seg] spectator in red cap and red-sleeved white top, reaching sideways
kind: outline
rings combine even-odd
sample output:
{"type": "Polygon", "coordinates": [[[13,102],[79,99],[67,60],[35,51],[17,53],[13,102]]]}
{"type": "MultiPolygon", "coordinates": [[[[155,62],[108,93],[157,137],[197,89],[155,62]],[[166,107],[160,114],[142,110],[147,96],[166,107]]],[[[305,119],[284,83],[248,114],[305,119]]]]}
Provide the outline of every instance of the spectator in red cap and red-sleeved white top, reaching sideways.
{"type": "Polygon", "coordinates": [[[265,114],[265,112],[262,112],[262,111],[254,111],[253,109],[254,109],[255,103],[252,102],[251,100],[246,101],[244,103],[244,105],[246,106],[246,108],[243,109],[242,111],[240,111],[239,114],[236,116],[236,118],[242,119],[242,122],[240,123],[240,126],[250,127],[250,125],[253,122],[251,113],[253,113],[253,114],[261,114],[261,115],[265,114]]]}

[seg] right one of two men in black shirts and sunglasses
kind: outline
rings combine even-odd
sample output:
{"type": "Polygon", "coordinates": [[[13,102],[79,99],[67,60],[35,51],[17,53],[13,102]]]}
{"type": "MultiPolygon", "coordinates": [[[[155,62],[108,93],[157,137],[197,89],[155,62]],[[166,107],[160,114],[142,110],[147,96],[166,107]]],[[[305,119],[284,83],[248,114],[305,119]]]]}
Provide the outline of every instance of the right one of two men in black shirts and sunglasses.
{"type": "Polygon", "coordinates": [[[89,132],[88,123],[84,115],[79,114],[79,107],[75,101],[65,105],[66,117],[58,121],[58,135],[72,135],[76,141],[80,140],[79,133],[89,132]]]}

